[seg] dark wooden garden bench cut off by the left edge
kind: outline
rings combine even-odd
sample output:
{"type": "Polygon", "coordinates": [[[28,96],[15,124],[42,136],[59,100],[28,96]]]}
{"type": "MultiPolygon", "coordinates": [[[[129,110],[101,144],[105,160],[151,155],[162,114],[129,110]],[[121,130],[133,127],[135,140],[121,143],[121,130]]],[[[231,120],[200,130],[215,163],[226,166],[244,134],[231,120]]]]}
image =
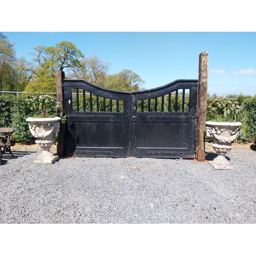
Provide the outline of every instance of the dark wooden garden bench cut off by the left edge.
{"type": "MultiPolygon", "coordinates": [[[[12,133],[13,133],[13,128],[0,128],[0,165],[1,165],[1,160],[2,160],[2,155],[5,152],[9,152],[12,156],[12,151],[11,151],[11,146],[13,145],[12,142],[12,133]],[[4,135],[1,135],[4,134],[4,135]]],[[[14,157],[14,156],[13,156],[14,157]]]]}

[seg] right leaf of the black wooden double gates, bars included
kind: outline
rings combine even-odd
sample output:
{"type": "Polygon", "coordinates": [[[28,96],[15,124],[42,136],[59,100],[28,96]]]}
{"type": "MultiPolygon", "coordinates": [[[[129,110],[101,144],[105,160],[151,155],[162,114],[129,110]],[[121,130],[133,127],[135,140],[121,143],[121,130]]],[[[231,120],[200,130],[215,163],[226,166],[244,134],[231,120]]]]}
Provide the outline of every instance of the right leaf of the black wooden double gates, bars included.
{"type": "Polygon", "coordinates": [[[197,91],[197,81],[177,80],[132,93],[134,156],[194,158],[197,91]]]}

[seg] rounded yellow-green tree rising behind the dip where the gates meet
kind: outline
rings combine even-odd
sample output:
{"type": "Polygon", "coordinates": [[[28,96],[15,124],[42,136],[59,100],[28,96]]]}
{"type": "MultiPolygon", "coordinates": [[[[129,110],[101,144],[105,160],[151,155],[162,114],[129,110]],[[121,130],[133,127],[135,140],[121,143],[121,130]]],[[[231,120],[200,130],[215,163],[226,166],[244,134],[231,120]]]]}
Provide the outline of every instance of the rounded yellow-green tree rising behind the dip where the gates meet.
{"type": "Polygon", "coordinates": [[[131,70],[123,69],[118,74],[108,76],[106,88],[133,92],[141,90],[143,84],[145,84],[145,81],[139,75],[131,70]]]}

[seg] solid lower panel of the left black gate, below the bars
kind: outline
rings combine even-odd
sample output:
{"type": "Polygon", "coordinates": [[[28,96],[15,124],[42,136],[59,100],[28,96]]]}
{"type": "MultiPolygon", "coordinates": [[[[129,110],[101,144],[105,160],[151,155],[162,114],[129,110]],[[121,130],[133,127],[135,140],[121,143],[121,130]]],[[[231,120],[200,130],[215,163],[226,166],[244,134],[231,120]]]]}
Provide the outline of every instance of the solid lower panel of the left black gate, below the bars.
{"type": "Polygon", "coordinates": [[[124,125],[122,121],[118,121],[115,114],[68,116],[67,155],[123,157],[124,125]]]}

